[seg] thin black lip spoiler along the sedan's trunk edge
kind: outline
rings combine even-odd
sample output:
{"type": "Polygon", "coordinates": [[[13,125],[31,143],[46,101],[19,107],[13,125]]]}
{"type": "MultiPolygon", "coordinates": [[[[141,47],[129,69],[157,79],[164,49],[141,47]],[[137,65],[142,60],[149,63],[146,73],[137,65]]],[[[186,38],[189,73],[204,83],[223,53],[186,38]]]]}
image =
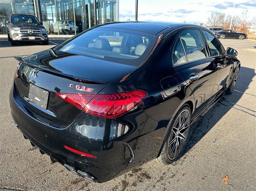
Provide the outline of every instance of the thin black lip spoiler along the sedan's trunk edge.
{"type": "Polygon", "coordinates": [[[27,65],[29,67],[32,67],[34,69],[38,69],[39,71],[44,71],[46,73],[58,75],[60,77],[64,77],[64,78],[67,78],[67,79],[70,79],[70,80],[73,80],[73,81],[82,82],[82,83],[88,83],[88,84],[102,84],[102,85],[105,84],[105,83],[98,82],[98,81],[91,81],[91,80],[80,78],[80,77],[77,77],[77,76],[72,76],[72,75],[64,74],[64,73],[61,73],[61,72],[59,72],[57,70],[56,71],[52,71],[52,70],[40,67],[38,65],[34,65],[32,63],[28,63],[28,62],[23,60],[23,57],[14,57],[14,59],[16,59],[17,61],[19,61],[21,63],[24,63],[25,65],[27,65]]]}

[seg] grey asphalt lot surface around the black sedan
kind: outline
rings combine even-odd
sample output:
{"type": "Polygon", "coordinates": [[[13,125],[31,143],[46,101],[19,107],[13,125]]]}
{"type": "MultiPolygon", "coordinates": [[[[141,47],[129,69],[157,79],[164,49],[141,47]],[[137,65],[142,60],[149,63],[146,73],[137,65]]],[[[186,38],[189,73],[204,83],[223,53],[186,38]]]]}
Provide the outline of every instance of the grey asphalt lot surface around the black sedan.
{"type": "Polygon", "coordinates": [[[255,41],[221,39],[241,61],[236,91],[192,125],[184,155],[171,165],[149,161],[106,183],[90,183],[41,155],[14,127],[8,102],[17,61],[54,47],[25,43],[15,47],[0,39],[0,189],[5,191],[252,191],[256,189],[256,52],[255,41]],[[228,184],[222,178],[229,176],[228,184]]]}

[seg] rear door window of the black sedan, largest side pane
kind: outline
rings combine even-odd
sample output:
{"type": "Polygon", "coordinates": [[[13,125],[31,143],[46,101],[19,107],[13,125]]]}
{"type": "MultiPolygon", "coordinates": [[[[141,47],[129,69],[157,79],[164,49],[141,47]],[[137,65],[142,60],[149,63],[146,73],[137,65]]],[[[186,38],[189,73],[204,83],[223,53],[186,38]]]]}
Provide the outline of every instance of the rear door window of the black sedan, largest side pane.
{"type": "Polygon", "coordinates": [[[206,58],[203,39],[198,30],[188,30],[180,35],[188,62],[206,58]]]}

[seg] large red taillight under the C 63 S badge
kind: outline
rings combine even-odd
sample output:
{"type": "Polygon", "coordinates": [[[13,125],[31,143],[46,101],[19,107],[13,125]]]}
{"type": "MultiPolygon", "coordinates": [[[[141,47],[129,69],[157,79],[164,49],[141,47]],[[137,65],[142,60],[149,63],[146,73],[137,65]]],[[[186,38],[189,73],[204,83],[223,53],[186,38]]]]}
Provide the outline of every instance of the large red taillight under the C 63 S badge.
{"type": "Polygon", "coordinates": [[[107,95],[56,94],[77,108],[104,118],[121,116],[140,104],[147,96],[142,90],[107,95]]]}

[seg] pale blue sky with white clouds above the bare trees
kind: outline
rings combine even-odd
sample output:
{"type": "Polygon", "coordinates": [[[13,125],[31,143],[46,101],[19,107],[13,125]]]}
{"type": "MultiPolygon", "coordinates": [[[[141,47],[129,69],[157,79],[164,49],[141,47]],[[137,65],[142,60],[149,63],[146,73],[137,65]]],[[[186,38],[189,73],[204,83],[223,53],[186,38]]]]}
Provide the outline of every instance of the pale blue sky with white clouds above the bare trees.
{"type": "MultiPolygon", "coordinates": [[[[207,22],[212,11],[256,16],[256,0],[138,0],[138,20],[207,22]]],[[[119,0],[119,20],[135,20],[135,0],[119,0]]]]}

